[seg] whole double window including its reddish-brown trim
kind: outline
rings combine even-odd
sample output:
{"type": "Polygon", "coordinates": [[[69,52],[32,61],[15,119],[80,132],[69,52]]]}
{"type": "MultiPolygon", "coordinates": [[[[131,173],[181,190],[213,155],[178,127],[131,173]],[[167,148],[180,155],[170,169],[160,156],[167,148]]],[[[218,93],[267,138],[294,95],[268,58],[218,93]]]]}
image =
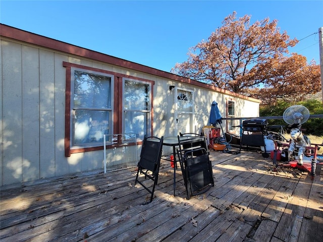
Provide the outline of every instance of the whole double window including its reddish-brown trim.
{"type": "MultiPolygon", "coordinates": [[[[65,156],[103,150],[151,136],[154,81],[63,62],[66,67],[65,156]],[[121,94],[123,93],[123,94],[121,94]],[[114,135],[130,134],[112,142],[114,135]],[[126,141],[126,142],[125,142],[126,141]]],[[[120,136],[118,136],[120,137],[120,136]]]]}

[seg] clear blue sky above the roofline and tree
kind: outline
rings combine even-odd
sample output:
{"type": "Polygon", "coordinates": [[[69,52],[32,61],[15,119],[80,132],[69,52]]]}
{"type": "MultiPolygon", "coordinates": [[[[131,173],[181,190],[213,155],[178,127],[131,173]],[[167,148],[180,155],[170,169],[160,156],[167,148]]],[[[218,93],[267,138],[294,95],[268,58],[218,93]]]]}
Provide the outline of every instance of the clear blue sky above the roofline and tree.
{"type": "Polygon", "coordinates": [[[0,22],[170,72],[225,17],[278,20],[300,42],[292,52],[319,64],[323,1],[4,1],[0,22]],[[314,34],[316,33],[316,34],[314,34]],[[307,37],[309,36],[309,37],[307,37]]]}

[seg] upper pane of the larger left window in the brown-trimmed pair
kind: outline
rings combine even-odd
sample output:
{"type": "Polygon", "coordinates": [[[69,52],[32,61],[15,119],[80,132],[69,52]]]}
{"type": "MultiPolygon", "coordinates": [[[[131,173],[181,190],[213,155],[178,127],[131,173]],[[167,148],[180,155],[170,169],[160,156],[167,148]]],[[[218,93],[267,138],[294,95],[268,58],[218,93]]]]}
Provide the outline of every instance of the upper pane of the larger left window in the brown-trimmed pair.
{"type": "Polygon", "coordinates": [[[74,107],[111,108],[111,78],[75,71],[74,107]]]}

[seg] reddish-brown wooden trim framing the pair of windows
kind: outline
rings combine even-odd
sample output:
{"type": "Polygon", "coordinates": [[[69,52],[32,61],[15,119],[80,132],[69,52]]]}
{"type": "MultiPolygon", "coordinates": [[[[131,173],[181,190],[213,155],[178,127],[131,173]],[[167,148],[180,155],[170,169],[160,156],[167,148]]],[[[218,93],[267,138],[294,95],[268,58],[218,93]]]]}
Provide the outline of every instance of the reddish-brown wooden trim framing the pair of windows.
{"type": "MultiPolygon", "coordinates": [[[[87,67],[79,64],[73,64],[69,62],[63,62],[63,67],[66,68],[66,93],[65,93],[65,142],[64,142],[64,150],[65,150],[65,157],[70,157],[71,154],[74,153],[82,153],[82,152],[88,152],[88,151],[96,151],[96,150],[103,150],[102,146],[96,146],[96,147],[88,147],[88,148],[70,148],[70,125],[71,125],[71,68],[80,68],[84,70],[99,72],[99,73],[105,73],[114,75],[114,109],[113,109],[113,123],[114,123],[114,134],[121,134],[122,133],[122,122],[118,122],[118,120],[122,120],[122,99],[119,98],[122,97],[122,78],[130,78],[130,79],[136,79],[140,81],[150,82],[152,85],[154,85],[154,81],[137,78],[133,76],[123,75],[120,73],[115,73],[111,71],[101,70],[97,68],[87,67]],[[118,98],[116,98],[118,97],[118,98]]],[[[151,107],[150,107],[150,135],[152,135],[152,126],[153,126],[153,90],[151,90],[151,107]]],[[[137,142],[137,144],[142,144],[141,141],[137,142]]],[[[133,144],[127,144],[127,145],[135,145],[133,144]]],[[[114,145],[106,145],[107,149],[115,148],[115,147],[122,147],[125,146],[125,144],[118,143],[114,145]]]]}

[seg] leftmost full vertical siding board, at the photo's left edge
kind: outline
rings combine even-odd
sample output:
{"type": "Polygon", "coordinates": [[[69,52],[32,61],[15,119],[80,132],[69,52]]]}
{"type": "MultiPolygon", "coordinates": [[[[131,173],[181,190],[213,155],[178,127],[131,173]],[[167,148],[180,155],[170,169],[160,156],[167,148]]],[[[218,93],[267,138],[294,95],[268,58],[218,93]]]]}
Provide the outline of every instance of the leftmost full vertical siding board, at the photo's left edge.
{"type": "Polygon", "coordinates": [[[21,45],[2,42],[3,176],[2,185],[22,181],[21,45]]]}

